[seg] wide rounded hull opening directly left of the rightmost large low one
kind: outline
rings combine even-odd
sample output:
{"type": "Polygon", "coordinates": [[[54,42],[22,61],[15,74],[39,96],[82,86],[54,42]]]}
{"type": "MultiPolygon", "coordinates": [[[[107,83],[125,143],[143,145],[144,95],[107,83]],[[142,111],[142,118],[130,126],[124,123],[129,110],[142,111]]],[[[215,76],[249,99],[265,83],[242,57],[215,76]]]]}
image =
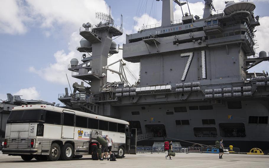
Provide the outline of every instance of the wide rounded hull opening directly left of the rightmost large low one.
{"type": "Polygon", "coordinates": [[[194,136],[197,138],[217,138],[217,129],[215,127],[194,127],[194,136]]]}

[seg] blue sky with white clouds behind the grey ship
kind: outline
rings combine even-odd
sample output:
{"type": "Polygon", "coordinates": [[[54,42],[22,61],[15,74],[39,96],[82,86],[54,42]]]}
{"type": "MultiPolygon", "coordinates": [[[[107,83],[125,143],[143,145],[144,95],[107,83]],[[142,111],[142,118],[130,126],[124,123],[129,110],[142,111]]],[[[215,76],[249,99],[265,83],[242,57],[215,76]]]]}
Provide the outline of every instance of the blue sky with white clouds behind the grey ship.
{"type": "MultiPolygon", "coordinates": [[[[203,1],[188,1],[191,13],[200,15],[203,1]]],[[[259,45],[256,51],[268,51],[269,0],[253,2],[256,4],[255,15],[261,17],[261,26],[256,32],[259,45]]],[[[216,9],[225,6],[224,0],[213,3],[216,9]]],[[[117,25],[120,25],[120,15],[123,14],[124,35],[116,39],[120,45],[125,43],[125,33],[137,32],[143,24],[161,20],[161,1],[155,0],[0,0],[0,98],[6,99],[6,93],[12,93],[24,95],[22,98],[59,103],[58,93],[64,93],[65,87],[69,88],[65,73],[71,85],[76,81],[67,70],[67,64],[72,58],[81,58],[81,53],[75,50],[82,38],[79,28],[82,23],[100,22],[95,19],[95,12],[108,13],[109,5],[117,25]],[[142,8],[137,12],[139,4],[142,8]],[[135,24],[134,18],[137,19],[135,24]]],[[[186,7],[184,12],[188,12],[186,7]]],[[[175,6],[174,10],[175,19],[180,19],[179,7],[175,6]]],[[[120,52],[108,62],[121,57],[120,52]]],[[[128,65],[138,76],[139,64],[128,65]]],[[[269,71],[267,62],[249,72],[262,70],[269,71]]],[[[116,74],[108,75],[110,81],[119,80],[116,74]]]]}

